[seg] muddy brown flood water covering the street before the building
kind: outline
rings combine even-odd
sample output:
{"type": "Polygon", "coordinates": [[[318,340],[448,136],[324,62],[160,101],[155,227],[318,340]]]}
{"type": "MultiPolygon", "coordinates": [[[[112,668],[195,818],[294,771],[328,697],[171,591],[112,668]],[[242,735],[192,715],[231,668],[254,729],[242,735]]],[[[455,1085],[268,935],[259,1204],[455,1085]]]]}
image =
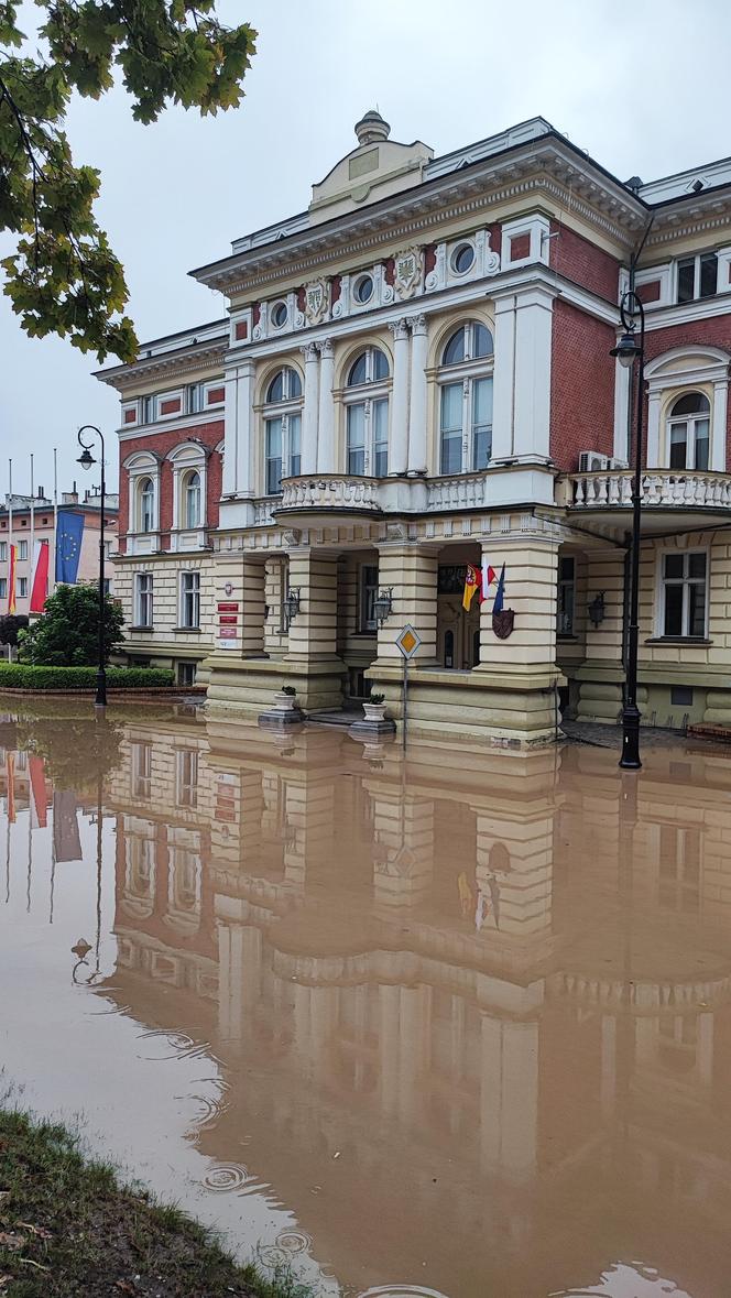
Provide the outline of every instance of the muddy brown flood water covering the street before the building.
{"type": "Polygon", "coordinates": [[[731,1294],[731,752],[0,711],[22,1105],[323,1295],[731,1294]]]}

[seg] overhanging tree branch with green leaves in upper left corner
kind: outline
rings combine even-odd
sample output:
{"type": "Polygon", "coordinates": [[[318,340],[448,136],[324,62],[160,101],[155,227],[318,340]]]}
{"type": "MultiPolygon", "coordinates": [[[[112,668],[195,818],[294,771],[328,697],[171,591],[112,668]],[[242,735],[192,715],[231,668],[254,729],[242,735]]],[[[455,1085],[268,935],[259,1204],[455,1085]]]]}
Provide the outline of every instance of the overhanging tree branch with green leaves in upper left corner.
{"type": "Polygon", "coordinates": [[[65,131],[71,95],[100,99],[121,78],[132,116],[169,104],[236,108],[254,53],[248,23],[225,27],[216,0],[36,0],[45,21],[30,56],[16,0],[0,0],[0,231],[5,293],[31,337],[82,352],[136,356],[125,271],[95,217],[100,174],[77,166],[65,131]]]}

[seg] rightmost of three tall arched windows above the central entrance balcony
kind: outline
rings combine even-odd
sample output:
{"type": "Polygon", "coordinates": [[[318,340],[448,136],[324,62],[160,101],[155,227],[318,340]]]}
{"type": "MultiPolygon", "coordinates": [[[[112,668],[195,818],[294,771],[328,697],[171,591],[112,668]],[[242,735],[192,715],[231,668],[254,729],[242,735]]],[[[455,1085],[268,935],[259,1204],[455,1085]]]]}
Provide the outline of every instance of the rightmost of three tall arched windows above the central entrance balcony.
{"type": "Polygon", "coordinates": [[[492,454],[492,335],[469,321],[449,335],[438,382],[441,474],[487,469],[492,454]]]}

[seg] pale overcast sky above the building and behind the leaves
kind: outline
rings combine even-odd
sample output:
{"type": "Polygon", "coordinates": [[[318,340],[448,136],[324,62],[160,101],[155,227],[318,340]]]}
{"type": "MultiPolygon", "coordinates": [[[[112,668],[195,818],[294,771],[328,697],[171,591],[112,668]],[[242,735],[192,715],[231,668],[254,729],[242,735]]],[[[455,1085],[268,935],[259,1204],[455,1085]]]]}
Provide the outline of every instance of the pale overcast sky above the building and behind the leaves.
{"type": "MultiPolygon", "coordinates": [[[[187,271],[301,212],[371,106],[392,139],[438,154],[541,114],[623,180],[731,153],[726,0],[219,0],[218,12],[258,30],[240,109],[203,119],[170,109],[139,126],[116,90],[75,101],[69,119],[75,161],[101,171],[100,221],[140,341],[225,314],[187,271]]],[[[117,395],[91,376],[95,357],[26,339],[5,297],[0,345],[0,493],[10,454],[13,488],[27,489],[31,450],[36,487],[49,491],[53,447],[68,488],[82,423],[109,434],[116,484],[117,395]]]]}

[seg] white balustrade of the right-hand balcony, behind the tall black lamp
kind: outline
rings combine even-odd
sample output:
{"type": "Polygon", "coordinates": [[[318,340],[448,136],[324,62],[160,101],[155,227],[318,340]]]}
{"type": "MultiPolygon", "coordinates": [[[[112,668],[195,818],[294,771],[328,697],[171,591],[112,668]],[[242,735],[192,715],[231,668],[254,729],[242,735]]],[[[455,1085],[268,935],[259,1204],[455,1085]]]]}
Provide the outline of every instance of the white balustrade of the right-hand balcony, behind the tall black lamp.
{"type": "MultiPolygon", "coordinates": [[[[575,509],[623,509],[632,504],[632,478],[627,470],[571,474],[570,505],[575,509]]],[[[731,509],[731,476],[692,470],[648,469],[641,478],[643,506],[675,505],[731,509]]]]}

